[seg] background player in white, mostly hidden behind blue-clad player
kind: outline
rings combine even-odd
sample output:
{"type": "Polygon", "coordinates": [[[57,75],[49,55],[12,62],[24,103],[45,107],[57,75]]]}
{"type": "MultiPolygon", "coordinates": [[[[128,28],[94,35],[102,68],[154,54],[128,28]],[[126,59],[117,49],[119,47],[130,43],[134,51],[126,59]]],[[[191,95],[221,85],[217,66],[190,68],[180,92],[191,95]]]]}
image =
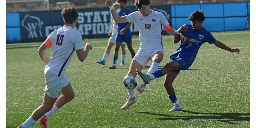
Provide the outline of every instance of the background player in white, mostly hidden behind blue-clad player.
{"type": "MultiPolygon", "coordinates": [[[[119,9],[119,5],[118,3],[113,3],[113,6],[115,8],[115,10],[119,9]]],[[[117,36],[117,23],[115,22],[115,20],[113,19],[113,17],[111,16],[111,27],[110,30],[108,31],[108,36],[110,36],[109,40],[108,40],[108,45],[106,47],[106,50],[103,54],[102,60],[96,61],[96,63],[98,64],[102,64],[105,65],[105,61],[108,58],[109,52],[111,51],[111,48],[114,46],[115,42],[116,42],[116,36],[117,36]],[[112,33],[112,34],[111,34],[112,33]]],[[[121,49],[122,49],[122,60],[121,60],[121,65],[124,65],[124,60],[125,60],[125,42],[121,43],[121,49]]]]}

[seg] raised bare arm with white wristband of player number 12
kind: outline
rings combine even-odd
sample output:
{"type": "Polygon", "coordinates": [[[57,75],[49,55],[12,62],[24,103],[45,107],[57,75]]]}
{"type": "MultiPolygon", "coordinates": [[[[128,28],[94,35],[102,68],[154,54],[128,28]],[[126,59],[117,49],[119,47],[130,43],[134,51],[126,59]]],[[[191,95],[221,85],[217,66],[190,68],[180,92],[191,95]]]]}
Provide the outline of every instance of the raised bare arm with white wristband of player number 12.
{"type": "MultiPolygon", "coordinates": [[[[112,7],[113,6],[113,1],[112,0],[106,0],[105,4],[108,7],[112,7]]],[[[113,8],[111,9],[111,14],[113,16],[113,19],[115,20],[116,23],[125,23],[128,22],[128,20],[125,18],[125,16],[120,17],[117,13],[116,10],[113,8]]]]}

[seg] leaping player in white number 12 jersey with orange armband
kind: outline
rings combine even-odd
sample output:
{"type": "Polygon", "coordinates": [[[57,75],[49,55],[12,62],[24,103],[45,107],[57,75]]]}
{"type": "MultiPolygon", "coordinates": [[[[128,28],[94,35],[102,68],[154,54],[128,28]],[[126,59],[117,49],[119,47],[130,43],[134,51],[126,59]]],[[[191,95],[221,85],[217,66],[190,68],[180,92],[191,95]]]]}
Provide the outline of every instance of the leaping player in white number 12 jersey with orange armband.
{"type": "MultiPolygon", "coordinates": [[[[152,65],[148,69],[148,73],[157,71],[159,63],[163,60],[164,54],[161,37],[162,26],[164,26],[165,31],[171,35],[177,35],[177,31],[170,27],[162,12],[153,11],[149,8],[149,0],[135,0],[134,5],[139,11],[132,12],[122,17],[119,17],[116,14],[112,3],[112,0],[106,0],[105,4],[109,6],[114,20],[117,23],[133,21],[136,23],[137,29],[140,33],[140,48],[132,59],[127,75],[132,74],[136,76],[136,68],[142,69],[149,60],[152,61],[152,65]]],[[[184,29],[185,28],[186,27],[184,27],[184,29]]],[[[186,37],[184,37],[182,34],[179,35],[183,42],[186,41],[186,37]]],[[[142,82],[137,90],[139,92],[143,92],[144,87],[145,83],[142,82]]],[[[136,103],[134,89],[128,89],[128,94],[129,99],[122,106],[122,110],[128,109],[129,106],[136,103]]]]}

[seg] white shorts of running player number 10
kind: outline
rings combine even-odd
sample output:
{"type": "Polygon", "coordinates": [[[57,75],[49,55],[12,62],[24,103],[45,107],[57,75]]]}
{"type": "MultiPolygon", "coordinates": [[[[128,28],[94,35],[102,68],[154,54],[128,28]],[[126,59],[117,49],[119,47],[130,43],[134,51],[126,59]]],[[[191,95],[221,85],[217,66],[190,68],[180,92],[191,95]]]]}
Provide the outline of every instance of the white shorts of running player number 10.
{"type": "Polygon", "coordinates": [[[50,71],[44,70],[45,88],[44,93],[52,98],[59,98],[61,89],[68,85],[67,76],[57,76],[50,71]]]}

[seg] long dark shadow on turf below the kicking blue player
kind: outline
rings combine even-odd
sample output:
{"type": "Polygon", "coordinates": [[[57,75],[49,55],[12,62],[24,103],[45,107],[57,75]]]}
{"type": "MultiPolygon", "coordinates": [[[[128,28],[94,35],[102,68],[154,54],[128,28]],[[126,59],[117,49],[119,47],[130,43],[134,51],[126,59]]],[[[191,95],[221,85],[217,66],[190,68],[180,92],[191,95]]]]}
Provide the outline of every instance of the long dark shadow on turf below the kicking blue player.
{"type": "Polygon", "coordinates": [[[165,118],[156,118],[158,120],[191,120],[191,119],[216,119],[220,122],[225,122],[228,124],[237,124],[230,121],[250,121],[249,113],[199,113],[199,112],[192,112],[187,110],[179,110],[182,112],[187,112],[191,114],[198,114],[198,116],[172,116],[166,114],[157,114],[157,113],[149,113],[149,112],[135,112],[137,114],[150,114],[156,116],[163,116],[165,118]]]}

